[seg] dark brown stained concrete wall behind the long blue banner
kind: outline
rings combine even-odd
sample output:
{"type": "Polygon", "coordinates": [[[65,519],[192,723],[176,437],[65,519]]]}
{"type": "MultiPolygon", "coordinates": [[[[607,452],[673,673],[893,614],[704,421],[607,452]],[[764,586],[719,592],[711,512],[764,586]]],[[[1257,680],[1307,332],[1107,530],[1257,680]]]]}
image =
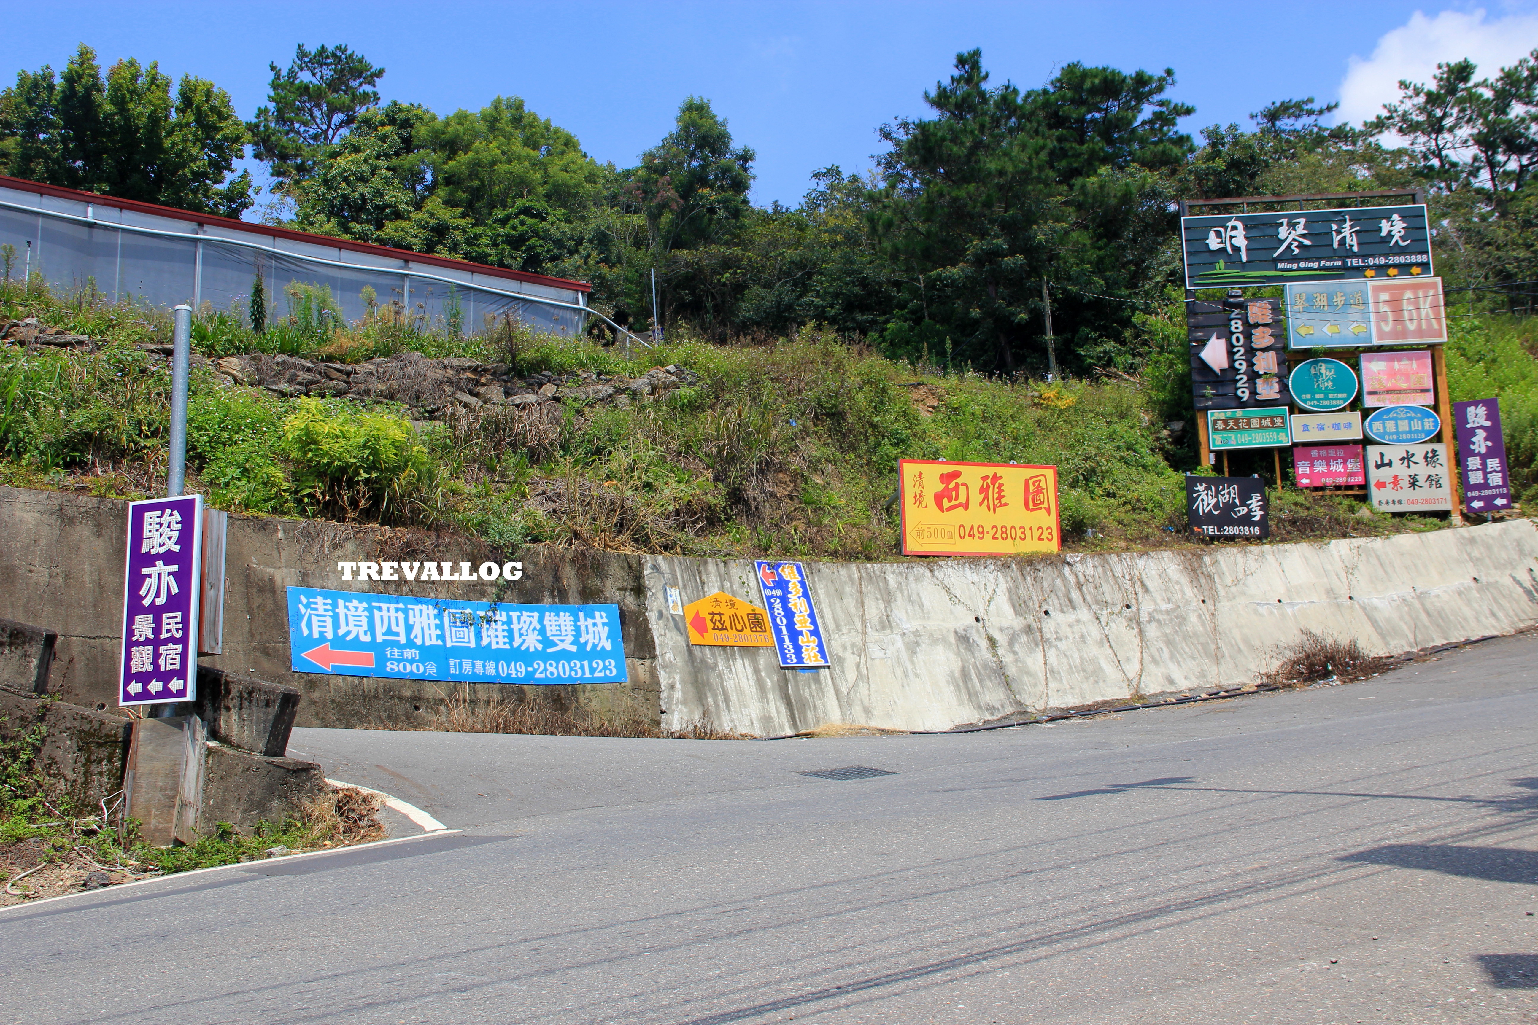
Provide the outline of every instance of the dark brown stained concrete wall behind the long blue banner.
{"type": "MultiPolygon", "coordinates": [[[[126,503],[0,487],[0,616],[58,633],[54,693],[83,705],[115,704],[122,638],[126,503]]],[[[644,707],[657,718],[657,681],[640,556],[531,546],[494,552],[474,539],[331,522],[231,516],[225,562],[223,655],[201,664],[294,687],[298,725],[424,725],[444,699],[644,707]],[[343,581],[338,561],[523,561],[523,579],[497,584],[343,581]],[[617,602],[629,684],[504,687],[289,672],[285,587],[435,595],[466,601],[617,602]]]]}

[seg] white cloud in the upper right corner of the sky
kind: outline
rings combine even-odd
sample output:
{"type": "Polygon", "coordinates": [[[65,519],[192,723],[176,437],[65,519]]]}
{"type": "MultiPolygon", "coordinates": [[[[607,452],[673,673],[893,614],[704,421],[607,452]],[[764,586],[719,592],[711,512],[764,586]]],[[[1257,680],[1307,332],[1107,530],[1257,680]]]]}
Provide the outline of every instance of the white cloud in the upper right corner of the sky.
{"type": "Polygon", "coordinates": [[[1538,14],[1486,18],[1483,9],[1443,11],[1433,18],[1420,11],[1407,25],[1383,34],[1372,57],[1352,57],[1341,81],[1338,121],[1361,121],[1383,114],[1400,98],[1400,80],[1429,83],[1440,61],[1470,58],[1478,75],[1495,75],[1538,48],[1538,14]]]}

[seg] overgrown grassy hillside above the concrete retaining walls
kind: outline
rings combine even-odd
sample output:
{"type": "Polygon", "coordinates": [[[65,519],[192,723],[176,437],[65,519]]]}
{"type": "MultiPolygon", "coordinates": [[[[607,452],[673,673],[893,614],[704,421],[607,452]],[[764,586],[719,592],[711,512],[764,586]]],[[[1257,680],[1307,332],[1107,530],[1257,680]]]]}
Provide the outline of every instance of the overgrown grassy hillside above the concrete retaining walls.
{"type": "MultiPolygon", "coordinates": [[[[143,496],[163,487],[169,343],[161,310],[0,286],[0,318],[37,317],[95,346],[0,346],[0,479],[143,496]]],[[[300,309],[265,335],[205,312],[205,357],[289,352],[340,363],[420,350],[555,380],[634,378],[678,364],[686,386],[615,407],[580,400],[451,409],[285,398],[194,372],[192,486],[223,509],[466,530],[500,547],[548,541],[689,555],[897,558],[897,459],[1055,464],[1067,549],[1193,544],[1195,469],[1178,303],[1140,320],[1141,375],[1044,386],[889,361],[823,330],[731,347],[683,340],[598,347],[520,329],[455,338],[369,318],[340,330],[300,309]],[[1184,406],[1183,406],[1184,404],[1184,406]],[[1187,430],[1170,432],[1167,421],[1187,430]]],[[[1538,495],[1538,361],[1526,321],[1472,320],[1449,346],[1455,398],[1501,396],[1513,479],[1538,495]]],[[[57,341],[57,338],[55,338],[57,341]]],[[[1233,472],[1272,476],[1270,455],[1233,472]],[[1253,464],[1253,466],[1252,466],[1253,464]]],[[[1358,501],[1273,492],[1273,539],[1443,526],[1363,513],[1358,501]]]]}

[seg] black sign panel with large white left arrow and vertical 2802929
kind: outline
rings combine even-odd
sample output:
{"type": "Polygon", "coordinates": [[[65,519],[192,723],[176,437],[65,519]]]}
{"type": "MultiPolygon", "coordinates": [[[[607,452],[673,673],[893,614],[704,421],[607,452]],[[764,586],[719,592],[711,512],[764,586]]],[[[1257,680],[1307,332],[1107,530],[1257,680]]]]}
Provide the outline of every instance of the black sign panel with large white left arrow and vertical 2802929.
{"type": "Polygon", "coordinates": [[[1287,329],[1281,300],[1186,303],[1190,389],[1197,409],[1286,406],[1287,329]]]}

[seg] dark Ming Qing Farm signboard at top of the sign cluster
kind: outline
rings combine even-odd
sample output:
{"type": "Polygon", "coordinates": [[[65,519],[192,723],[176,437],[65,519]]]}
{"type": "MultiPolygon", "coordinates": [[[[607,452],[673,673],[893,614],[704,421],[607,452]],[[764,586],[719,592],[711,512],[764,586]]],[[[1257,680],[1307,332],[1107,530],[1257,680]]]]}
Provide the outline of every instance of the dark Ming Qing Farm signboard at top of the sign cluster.
{"type": "Polygon", "coordinates": [[[1432,274],[1420,204],[1204,214],[1180,227],[1187,289],[1432,274]]]}

